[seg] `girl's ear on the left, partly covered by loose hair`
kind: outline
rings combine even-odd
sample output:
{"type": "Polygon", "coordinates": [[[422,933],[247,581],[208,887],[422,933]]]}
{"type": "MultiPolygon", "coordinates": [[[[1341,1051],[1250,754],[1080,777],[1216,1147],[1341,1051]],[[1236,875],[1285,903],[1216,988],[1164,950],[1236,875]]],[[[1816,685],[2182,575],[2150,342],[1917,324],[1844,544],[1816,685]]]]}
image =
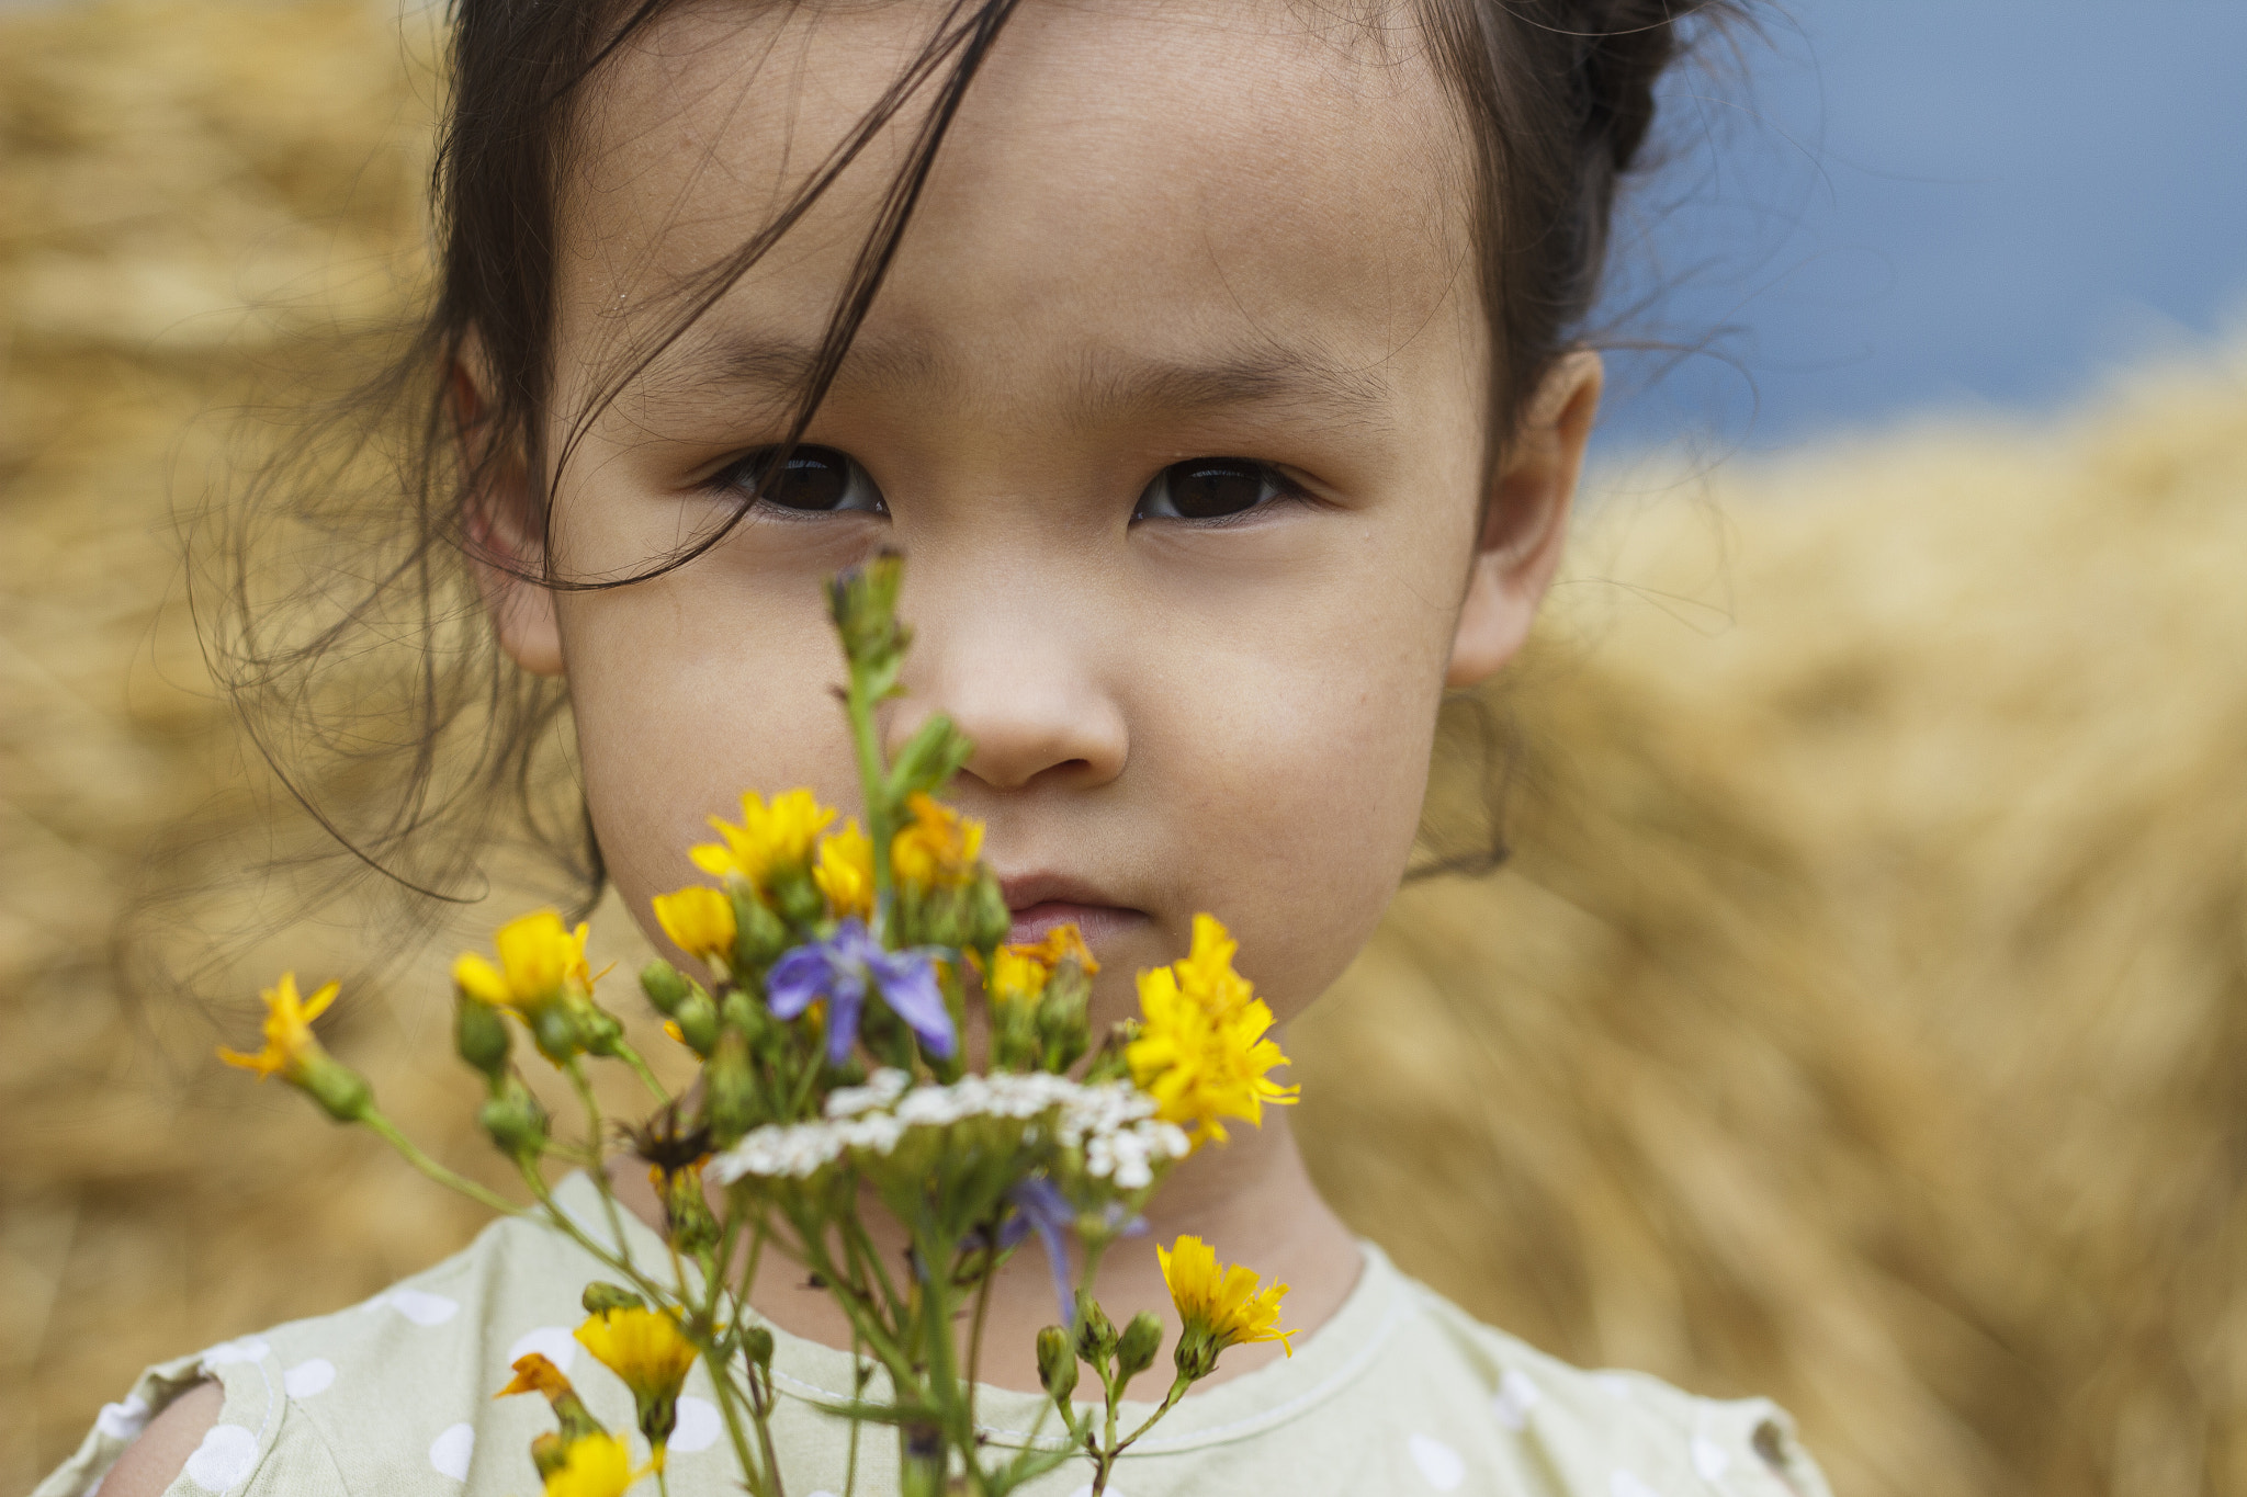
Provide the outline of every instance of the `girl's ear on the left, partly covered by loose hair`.
{"type": "Polygon", "coordinates": [[[490,379],[474,334],[461,343],[447,379],[454,438],[461,451],[461,530],[476,570],[483,610],[499,649],[533,676],[562,676],[562,628],[555,595],[535,577],[546,568],[537,503],[521,449],[492,424],[490,379]]]}

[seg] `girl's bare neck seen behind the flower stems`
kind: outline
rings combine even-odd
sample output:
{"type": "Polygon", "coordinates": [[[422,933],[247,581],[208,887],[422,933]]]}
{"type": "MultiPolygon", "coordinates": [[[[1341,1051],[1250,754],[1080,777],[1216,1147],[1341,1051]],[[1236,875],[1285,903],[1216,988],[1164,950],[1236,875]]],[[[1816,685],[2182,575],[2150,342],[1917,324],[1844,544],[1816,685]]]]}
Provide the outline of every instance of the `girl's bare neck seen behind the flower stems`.
{"type": "MultiPolygon", "coordinates": [[[[663,1212],[647,1176],[631,1158],[611,1160],[611,1185],[634,1216],[663,1230],[663,1212]]],[[[876,1205],[865,1212],[867,1232],[890,1261],[903,1261],[906,1239],[876,1205]]],[[[1155,1243],[1168,1246],[1180,1234],[1207,1241],[1218,1261],[1245,1264],[1265,1284],[1288,1284],[1281,1324],[1303,1333],[1317,1331],[1341,1308],[1357,1282],[1362,1255],[1341,1219],[1303,1169],[1288,1115],[1265,1111],[1263,1129],[1236,1124],[1231,1142],[1207,1147],[1180,1165],[1155,1196],[1146,1214],[1148,1232],[1117,1241],[1101,1261],[1101,1308],[1117,1324],[1139,1311],[1155,1311],[1164,1322],[1164,1347],[1177,1342],[1177,1311],[1162,1282],[1155,1243]]],[[[1070,1279],[1076,1282],[1081,1257],[1072,1252],[1070,1279]]],[[[750,1304],[782,1331],[827,1347],[849,1347],[849,1322],[834,1299],[811,1284],[802,1266],[777,1252],[766,1252],[750,1304]]],[[[991,1306],[984,1326],[982,1383],[1013,1392],[1038,1392],[1036,1335],[1061,1317],[1045,1250],[1027,1241],[991,1284],[991,1306]]],[[[1281,1356],[1276,1344],[1234,1347],[1209,1387],[1238,1378],[1281,1356]]],[[[1159,1398],[1168,1385],[1168,1356],[1146,1374],[1132,1392],[1159,1398]]]]}

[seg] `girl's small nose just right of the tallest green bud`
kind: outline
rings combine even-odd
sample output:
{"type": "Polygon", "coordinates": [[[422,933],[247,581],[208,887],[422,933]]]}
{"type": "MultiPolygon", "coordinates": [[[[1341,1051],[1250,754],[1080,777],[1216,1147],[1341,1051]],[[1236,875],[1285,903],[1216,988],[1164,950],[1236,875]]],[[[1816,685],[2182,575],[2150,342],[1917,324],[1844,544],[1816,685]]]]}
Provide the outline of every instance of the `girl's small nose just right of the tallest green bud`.
{"type": "Polygon", "coordinates": [[[1121,774],[1130,736],[1094,662],[1065,628],[986,608],[917,626],[892,752],[944,711],[975,741],[966,772],[991,790],[1085,790],[1121,774]]]}

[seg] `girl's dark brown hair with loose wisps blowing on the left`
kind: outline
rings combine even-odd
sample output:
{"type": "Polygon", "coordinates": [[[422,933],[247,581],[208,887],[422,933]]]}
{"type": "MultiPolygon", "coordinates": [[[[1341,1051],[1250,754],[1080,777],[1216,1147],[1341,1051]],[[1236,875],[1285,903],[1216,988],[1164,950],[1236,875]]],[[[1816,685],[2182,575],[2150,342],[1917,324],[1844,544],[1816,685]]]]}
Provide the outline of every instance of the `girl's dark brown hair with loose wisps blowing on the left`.
{"type": "MultiPolygon", "coordinates": [[[[793,424],[800,438],[849,348],[975,72],[1022,0],[948,0],[917,58],[753,240],[679,290],[674,316],[604,370],[560,426],[553,305],[557,202],[571,126],[602,65],[672,0],[454,0],[449,108],[434,175],[438,283],[427,319],[342,420],[267,462],[225,527],[202,617],[211,658],[276,779],[360,864],[418,902],[481,893],[497,848],[530,848],[551,891],[589,907],[604,873],[568,774],[557,682],[492,649],[467,557],[465,453],[544,478],[575,433],[730,287],[881,130],[910,150],[827,325],[793,424]],[[917,117],[912,114],[917,110],[917,117]],[[461,431],[449,370],[474,339],[485,404],[461,431]],[[562,429],[560,451],[542,433],[562,429]],[[371,563],[303,548],[279,584],[256,541],[274,516],[310,521],[371,563]],[[351,579],[351,581],[344,581],[351,579]],[[315,606],[303,608],[303,593],[315,606]],[[216,604],[216,606],[213,606],[216,604]],[[400,644],[380,667],[369,642],[400,644]],[[373,678],[369,678],[373,671],[373,678]],[[344,689],[337,678],[360,685],[344,689]]],[[[1492,323],[1490,449],[1503,449],[1550,361],[1584,334],[1607,260],[1618,180],[1654,123],[1654,85],[1726,0],[1409,0],[1474,146],[1474,242],[1492,323]]],[[[544,523],[544,516],[530,516],[544,523]]],[[[533,577],[551,588],[629,586],[692,561],[724,530],[629,577],[533,577]]],[[[485,561],[501,561],[485,557],[485,561]]],[[[1452,862],[1458,862],[1456,857],[1452,862]]],[[[1465,862],[1476,862],[1467,857],[1465,862]]],[[[1494,862],[1485,853],[1479,862],[1494,862]]],[[[337,880],[297,884],[303,902],[337,880]]]]}

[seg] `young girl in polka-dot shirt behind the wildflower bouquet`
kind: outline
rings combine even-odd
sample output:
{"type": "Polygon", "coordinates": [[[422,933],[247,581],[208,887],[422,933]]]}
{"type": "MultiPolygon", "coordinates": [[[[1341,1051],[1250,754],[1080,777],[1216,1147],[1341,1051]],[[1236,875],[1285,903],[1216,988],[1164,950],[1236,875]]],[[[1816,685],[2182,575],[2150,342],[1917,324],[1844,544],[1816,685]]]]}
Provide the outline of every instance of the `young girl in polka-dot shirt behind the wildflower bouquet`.
{"type": "MultiPolygon", "coordinates": [[[[566,685],[649,938],[744,786],[852,806],[820,579],[892,545],[885,732],[973,736],[1013,938],[1076,922],[1106,1023],[1216,909],[1281,1021],[1317,999],[1402,875],[1443,694],[1512,658],[1559,559],[1600,399],[1568,339],[1683,9],[458,0],[422,554],[476,577],[519,725],[566,685]]],[[[1112,1490],[1825,1490],[1771,1405],[1568,1369],[1404,1279],[1283,1115],[1150,1216],[1101,1273],[1119,1322],[1177,1333],[1153,1241],[1193,1232],[1290,1284],[1301,1335],[1231,1351],[1112,1490]]],[[[40,1497],[519,1493],[544,1412],[492,1392],[568,1362],[593,1275],[494,1225],[151,1369],[40,1497]]],[[[843,1490],[847,1324],[777,1268],[753,1304],[782,1475],[843,1490]]],[[[1011,1264],[991,1441],[1036,1423],[1047,1320],[1011,1264]]],[[[683,1497],[728,1488],[694,1387],[683,1497]]]]}

